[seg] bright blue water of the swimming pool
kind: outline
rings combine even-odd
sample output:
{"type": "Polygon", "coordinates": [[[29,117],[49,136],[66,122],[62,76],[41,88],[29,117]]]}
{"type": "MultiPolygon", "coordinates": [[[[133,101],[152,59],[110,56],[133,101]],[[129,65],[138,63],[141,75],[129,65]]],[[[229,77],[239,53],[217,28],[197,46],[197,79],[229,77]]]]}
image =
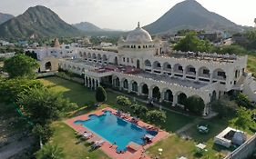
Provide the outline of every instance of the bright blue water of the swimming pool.
{"type": "Polygon", "coordinates": [[[155,131],[148,131],[136,124],[129,123],[109,111],[99,116],[91,114],[89,118],[86,121],[76,121],[75,124],[83,124],[111,144],[116,142],[118,145],[117,151],[126,151],[129,142],[144,144],[142,139],[144,134],[158,134],[155,131]]]}

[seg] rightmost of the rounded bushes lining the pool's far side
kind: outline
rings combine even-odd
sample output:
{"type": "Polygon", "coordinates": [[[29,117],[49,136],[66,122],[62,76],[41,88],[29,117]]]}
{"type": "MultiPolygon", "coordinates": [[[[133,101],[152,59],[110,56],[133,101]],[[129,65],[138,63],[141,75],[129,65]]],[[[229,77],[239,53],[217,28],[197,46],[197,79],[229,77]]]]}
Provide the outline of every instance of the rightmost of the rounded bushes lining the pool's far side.
{"type": "Polygon", "coordinates": [[[153,110],[148,111],[146,114],[148,121],[152,123],[165,123],[166,121],[166,114],[162,111],[153,110]]]}

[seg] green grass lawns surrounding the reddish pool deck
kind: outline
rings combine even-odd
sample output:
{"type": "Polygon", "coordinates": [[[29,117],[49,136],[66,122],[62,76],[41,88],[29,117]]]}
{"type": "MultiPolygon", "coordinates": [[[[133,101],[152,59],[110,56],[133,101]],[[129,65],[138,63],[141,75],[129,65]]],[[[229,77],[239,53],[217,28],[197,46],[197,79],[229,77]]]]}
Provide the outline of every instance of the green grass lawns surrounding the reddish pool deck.
{"type": "MultiPolygon", "coordinates": [[[[87,89],[82,84],[77,84],[74,82],[67,81],[65,79],[61,79],[58,77],[47,77],[45,79],[40,79],[43,84],[48,85],[50,89],[53,89],[57,92],[62,92],[65,97],[69,98],[71,102],[77,103],[80,108],[77,110],[75,114],[69,115],[69,117],[77,116],[79,114],[87,114],[88,112],[94,111],[96,109],[100,109],[104,106],[101,106],[100,108],[95,108],[92,106],[87,106],[88,102],[96,102],[95,101],[95,91],[92,91],[90,89],[87,89]]],[[[124,108],[120,105],[116,104],[116,97],[119,94],[113,93],[112,91],[107,89],[108,94],[108,101],[107,104],[109,104],[111,107],[115,109],[123,109],[126,111],[131,112],[130,108],[124,108]]],[[[140,104],[140,103],[139,103],[140,104]]],[[[149,108],[153,109],[153,108],[149,108]]],[[[165,129],[166,131],[173,133],[182,126],[189,124],[190,122],[193,122],[196,117],[189,117],[182,114],[176,114],[173,112],[167,111],[167,121],[163,124],[157,124],[162,129],[165,129]]],[[[201,120],[201,119],[200,119],[201,120]]],[[[176,158],[177,156],[184,155],[189,158],[195,158],[194,152],[195,152],[195,145],[198,143],[204,143],[207,144],[208,152],[204,152],[203,156],[201,158],[204,158],[206,156],[210,156],[210,158],[216,158],[215,155],[218,154],[218,148],[214,147],[213,144],[213,137],[216,134],[219,134],[222,129],[225,128],[227,125],[226,120],[218,120],[218,119],[212,119],[212,120],[201,120],[202,123],[208,124],[210,126],[210,133],[209,134],[199,134],[196,126],[193,126],[189,128],[189,130],[186,132],[187,135],[191,136],[193,140],[191,141],[185,141],[181,139],[177,135],[172,135],[169,138],[160,141],[159,143],[153,145],[148,149],[148,154],[151,154],[152,156],[158,155],[158,149],[163,148],[164,152],[162,157],[163,158],[176,158]]],[[[76,145],[77,139],[74,134],[74,131],[69,128],[66,124],[63,123],[55,123],[53,124],[56,133],[53,137],[52,142],[55,144],[70,144],[67,147],[72,147],[72,150],[69,150],[69,148],[65,149],[65,153],[68,154],[68,156],[71,156],[75,151],[79,152],[77,155],[77,158],[86,156],[86,155],[94,155],[91,153],[88,153],[87,147],[83,145],[76,145]],[[67,133],[66,133],[67,132],[67,133]],[[63,138],[65,138],[67,141],[63,142],[63,138]]],[[[71,149],[71,148],[70,148],[71,149]]],[[[94,158],[98,158],[99,156],[92,156],[94,158]]]]}

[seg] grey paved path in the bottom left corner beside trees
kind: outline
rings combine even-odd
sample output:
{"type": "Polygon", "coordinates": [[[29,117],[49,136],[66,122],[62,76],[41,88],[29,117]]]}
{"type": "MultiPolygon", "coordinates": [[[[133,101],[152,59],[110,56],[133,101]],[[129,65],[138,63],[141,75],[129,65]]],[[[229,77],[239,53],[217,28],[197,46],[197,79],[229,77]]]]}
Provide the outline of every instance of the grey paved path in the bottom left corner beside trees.
{"type": "Polygon", "coordinates": [[[6,159],[21,153],[23,150],[33,144],[32,138],[24,138],[21,141],[15,141],[11,144],[7,144],[0,149],[0,159],[6,159]]]}

